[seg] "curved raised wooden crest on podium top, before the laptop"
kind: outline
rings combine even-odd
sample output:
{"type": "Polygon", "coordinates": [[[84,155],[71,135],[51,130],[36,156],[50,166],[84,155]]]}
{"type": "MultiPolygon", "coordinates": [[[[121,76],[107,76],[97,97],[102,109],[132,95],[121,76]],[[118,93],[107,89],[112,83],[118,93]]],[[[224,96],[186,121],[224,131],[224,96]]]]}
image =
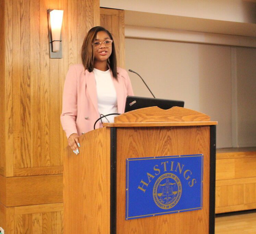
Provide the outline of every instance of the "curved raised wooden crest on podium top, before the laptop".
{"type": "Polygon", "coordinates": [[[201,122],[210,121],[210,116],[182,107],[172,107],[168,110],[147,107],[118,115],[114,121],[115,123],[201,122]]]}

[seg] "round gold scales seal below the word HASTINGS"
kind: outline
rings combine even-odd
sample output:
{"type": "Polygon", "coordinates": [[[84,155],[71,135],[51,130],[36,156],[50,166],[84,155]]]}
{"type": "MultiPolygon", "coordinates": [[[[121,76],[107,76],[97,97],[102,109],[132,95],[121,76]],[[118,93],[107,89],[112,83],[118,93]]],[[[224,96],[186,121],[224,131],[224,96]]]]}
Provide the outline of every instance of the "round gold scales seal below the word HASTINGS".
{"type": "Polygon", "coordinates": [[[164,210],[173,208],[180,200],[182,185],[178,176],[165,173],[158,177],[153,187],[156,205],[164,210]]]}

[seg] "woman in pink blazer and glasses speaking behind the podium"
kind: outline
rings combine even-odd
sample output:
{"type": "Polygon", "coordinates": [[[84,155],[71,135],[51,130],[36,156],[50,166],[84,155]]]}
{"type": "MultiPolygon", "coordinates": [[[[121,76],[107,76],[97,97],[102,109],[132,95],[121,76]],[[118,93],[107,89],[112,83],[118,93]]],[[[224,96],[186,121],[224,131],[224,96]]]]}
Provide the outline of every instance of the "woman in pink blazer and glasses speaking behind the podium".
{"type": "MultiPolygon", "coordinates": [[[[70,66],[63,90],[61,124],[76,155],[78,137],[93,130],[100,115],[123,113],[128,95],[133,95],[131,81],[117,67],[111,34],[100,26],[91,28],[83,42],[82,64],[70,66]]],[[[108,116],[108,121],[113,118],[108,116]]]]}

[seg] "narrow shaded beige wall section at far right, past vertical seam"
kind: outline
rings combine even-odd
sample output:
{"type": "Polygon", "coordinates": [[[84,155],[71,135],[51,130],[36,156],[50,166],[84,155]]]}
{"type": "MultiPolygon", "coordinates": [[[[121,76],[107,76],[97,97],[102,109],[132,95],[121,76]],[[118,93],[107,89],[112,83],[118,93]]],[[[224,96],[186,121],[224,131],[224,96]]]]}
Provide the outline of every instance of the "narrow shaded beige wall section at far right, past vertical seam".
{"type": "Polygon", "coordinates": [[[256,146],[256,49],[237,48],[236,57],[238,145],[256,146]]]}

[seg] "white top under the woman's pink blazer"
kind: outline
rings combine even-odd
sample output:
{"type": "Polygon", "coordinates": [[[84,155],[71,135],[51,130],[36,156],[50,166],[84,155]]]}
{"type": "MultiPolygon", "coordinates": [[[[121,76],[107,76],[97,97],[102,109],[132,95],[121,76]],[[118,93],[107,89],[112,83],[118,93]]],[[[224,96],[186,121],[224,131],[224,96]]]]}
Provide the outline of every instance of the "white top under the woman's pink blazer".
{"type": "MultiPolygon", "coordinates": [[[[99,114],[106,115],[118,113],[117,93],[115,91],[110,69],[104,72],[94,68],[93,72],[96,81],[99,114]]],[[[106,118],[102,118],[101,120],[103,123],[108,123],[108,121],[113,123],[115,116],[116,115],[109,115],[106,117],[108,120],[106,118]]]]}

